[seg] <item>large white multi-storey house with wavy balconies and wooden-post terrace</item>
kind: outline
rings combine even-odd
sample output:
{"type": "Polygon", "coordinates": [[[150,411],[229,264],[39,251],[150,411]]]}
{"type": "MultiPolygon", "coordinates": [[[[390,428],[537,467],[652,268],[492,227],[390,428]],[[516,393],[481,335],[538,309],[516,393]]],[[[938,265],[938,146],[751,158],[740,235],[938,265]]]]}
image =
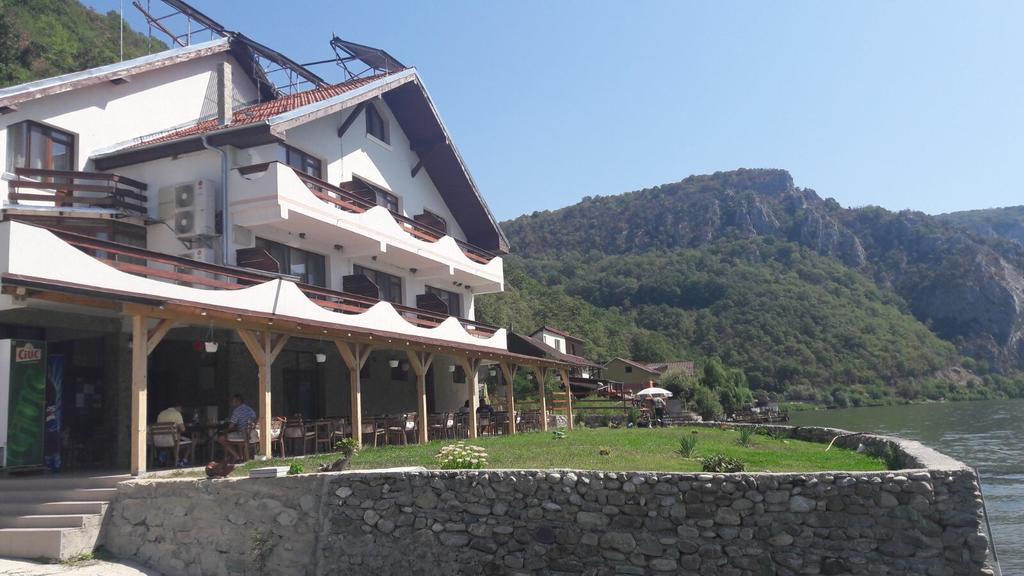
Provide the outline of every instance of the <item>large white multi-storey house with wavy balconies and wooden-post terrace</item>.
{"type": "Polygon", "coordinates": [[[0,90],[0,338],[46,370],[45,393],[0,388],[8,465],[139,474],[156,414],[181,405],[212,429],[236,394],[262,454],[279,416],[333,422],[303,428],[306,451],[307,435],[377,442],[394,419],[424,442],[469,403],[473,438],[499,370],[567,380],[474,319],[508,244],[416,69],[335,39],[367,71],[331,83],[214,32],[0,90]],[[267,59],[301,84],[271,84],[267,59]]]}

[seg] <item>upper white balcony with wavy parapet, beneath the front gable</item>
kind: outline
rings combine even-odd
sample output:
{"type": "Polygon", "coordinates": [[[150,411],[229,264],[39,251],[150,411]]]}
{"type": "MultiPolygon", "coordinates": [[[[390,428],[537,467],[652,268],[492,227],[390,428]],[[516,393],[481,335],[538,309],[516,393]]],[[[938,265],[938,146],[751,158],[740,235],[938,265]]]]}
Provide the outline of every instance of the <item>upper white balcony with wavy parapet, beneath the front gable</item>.
{"type": "Polygon", "coordinates": [[[450,280],[475,293],[504,286],[494,252],[279,162],[233,170],[228,186],[232,222],[257,233],[260,227],[303,233],[343,246],[349,257],[386,252],[390,263],[418,271],[418,278],[450,280]]]}

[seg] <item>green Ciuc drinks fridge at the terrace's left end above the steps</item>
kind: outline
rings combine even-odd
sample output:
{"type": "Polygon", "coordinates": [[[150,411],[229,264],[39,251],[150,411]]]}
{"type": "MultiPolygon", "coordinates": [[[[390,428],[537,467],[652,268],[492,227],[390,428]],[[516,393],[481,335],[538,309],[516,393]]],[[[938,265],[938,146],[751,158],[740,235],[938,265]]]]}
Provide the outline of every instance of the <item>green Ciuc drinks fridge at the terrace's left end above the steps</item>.
{"type": "Polygon", "coordinates": [[[43,464],[46,342],[0,339],[0,466],[43,464]]]}

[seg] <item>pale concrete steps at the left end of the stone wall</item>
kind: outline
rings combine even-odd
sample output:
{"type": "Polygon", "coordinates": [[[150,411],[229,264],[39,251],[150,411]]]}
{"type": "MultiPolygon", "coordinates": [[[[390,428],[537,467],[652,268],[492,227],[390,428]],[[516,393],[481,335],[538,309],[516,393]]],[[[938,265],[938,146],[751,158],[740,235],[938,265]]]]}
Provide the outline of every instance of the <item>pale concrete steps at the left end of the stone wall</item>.
{"type": "Polygon", "coordinates": [[[0,480],[0,558],[68,560],[91,552],[117,484],[129,478],[56,475],[0,480]]]}

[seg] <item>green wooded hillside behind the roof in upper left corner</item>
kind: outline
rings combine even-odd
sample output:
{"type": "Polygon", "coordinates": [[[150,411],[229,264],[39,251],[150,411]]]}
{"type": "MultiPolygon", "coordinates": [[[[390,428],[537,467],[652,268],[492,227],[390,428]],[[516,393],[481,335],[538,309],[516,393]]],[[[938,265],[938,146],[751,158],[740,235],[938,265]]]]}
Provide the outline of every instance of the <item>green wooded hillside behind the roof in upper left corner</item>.
{"type": "MultiPolygon", "coordinates": [[[[0,0],[0,87],[116,63],[120,29],[77,0],[0,0]]],[[[124,41],[125,59],[167,49],[127,26],[124,41]]]]}

